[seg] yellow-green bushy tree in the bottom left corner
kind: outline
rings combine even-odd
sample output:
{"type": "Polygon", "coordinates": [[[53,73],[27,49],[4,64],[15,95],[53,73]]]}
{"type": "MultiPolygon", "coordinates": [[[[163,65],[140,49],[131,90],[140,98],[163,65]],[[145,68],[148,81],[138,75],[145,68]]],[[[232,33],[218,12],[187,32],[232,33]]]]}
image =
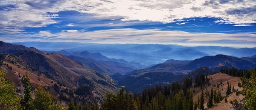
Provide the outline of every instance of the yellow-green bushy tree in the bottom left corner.
{"type": "Polygon", "coordinates": [[[10,80],[6,80],[0,69],[0,109],[1,110],[20,110],[20,96],[15,91],[15,86],[10,80]]]}

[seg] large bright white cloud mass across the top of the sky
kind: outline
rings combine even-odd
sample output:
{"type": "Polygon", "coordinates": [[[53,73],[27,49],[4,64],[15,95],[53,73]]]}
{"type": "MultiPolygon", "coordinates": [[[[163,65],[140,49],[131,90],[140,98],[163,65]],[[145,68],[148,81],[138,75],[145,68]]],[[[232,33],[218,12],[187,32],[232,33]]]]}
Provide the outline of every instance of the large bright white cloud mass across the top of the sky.
{"type": "MultiPolygon", "coordinates": [[[[190,17],[221,18],[218,23],[256,23],[255,0],[1,0],[0,30],[43,27],[58,23],[51,14],[73,10],[123,21],[175,22],[190,17]],[[48,13],[49,12],[49,13],[48,13]],[[114,19],[114,18],[113,18],[114,19]]],[[[22,31],[22,30],[21,30],[22,31]]]]}

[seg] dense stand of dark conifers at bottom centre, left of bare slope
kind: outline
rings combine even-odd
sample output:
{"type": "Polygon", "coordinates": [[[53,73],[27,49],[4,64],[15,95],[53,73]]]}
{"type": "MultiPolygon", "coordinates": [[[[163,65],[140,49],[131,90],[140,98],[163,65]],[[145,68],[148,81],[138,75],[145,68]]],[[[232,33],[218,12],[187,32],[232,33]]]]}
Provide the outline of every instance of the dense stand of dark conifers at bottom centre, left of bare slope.
{"type": "Polygon", "coordinates": [[[146,88],[142,94],[131,94],[121,88],[119,93],[107,93],[103,100],[103,110],[193,110],[192,81],[185,79],[182,84],[146,88]],[[184,92],[186,88],[189,91],[184,92]]]}

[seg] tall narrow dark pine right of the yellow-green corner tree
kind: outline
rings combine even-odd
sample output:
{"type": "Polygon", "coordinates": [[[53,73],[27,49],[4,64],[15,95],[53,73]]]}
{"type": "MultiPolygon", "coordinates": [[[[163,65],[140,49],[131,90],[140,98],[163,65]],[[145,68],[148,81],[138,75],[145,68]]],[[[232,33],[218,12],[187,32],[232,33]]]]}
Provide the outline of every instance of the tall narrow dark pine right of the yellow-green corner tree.
{"type": "Polygon", "coordinates": [[[33,110],[35,109],[33,106],[33,99],[32,99],[32,94],[31,94],[31,88],[32,85],[29,81],[29,74],[26,71],[26,77],[24,78],[24,98],[21,100],[21,105],[24,110],[33,110]]]}

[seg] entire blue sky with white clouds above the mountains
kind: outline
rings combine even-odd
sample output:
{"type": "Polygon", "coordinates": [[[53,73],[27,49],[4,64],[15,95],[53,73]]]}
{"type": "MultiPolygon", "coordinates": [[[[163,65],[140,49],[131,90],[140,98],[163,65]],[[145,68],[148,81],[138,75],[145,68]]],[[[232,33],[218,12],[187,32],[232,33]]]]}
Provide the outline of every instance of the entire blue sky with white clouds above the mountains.
{"type": "Polygon", "coordinates": [[[256,47],[256,0],[0,0],[0,40],[256,47]]]}

